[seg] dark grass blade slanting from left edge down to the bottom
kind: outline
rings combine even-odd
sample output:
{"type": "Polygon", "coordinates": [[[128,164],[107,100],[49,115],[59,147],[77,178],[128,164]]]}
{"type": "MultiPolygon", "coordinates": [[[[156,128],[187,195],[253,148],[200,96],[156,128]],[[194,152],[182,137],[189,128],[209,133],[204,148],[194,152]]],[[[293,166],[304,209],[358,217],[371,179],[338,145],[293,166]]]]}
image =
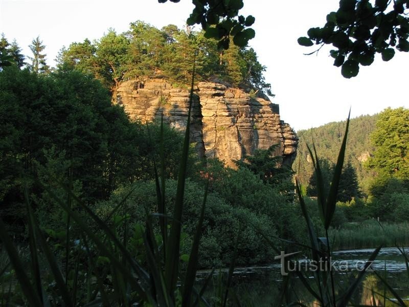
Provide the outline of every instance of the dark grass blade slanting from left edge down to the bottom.
{"type": "Polygon", "coordinates": [[[22,293],[24,293],[27,302],[31,306],[41,306],[40,297],[37,294],[36,289],[30,282],[29,276],[26,274],[25,266],[22,264],[18,252],[7,233],[6,227],[0,217],[0,239],[2,239],[3,247],[9,255],[10,262],[14,268],[18,283],[21,287],[22,293]]]}

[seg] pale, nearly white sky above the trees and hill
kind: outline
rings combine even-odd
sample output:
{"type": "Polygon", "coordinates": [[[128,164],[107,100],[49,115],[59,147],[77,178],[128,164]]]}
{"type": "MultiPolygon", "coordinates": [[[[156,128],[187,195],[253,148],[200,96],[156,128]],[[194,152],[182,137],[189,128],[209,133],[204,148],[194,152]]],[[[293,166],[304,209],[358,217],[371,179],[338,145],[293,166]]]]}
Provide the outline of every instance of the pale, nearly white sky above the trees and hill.
{"type": "MultiPolygon", "coordinates": [[[[266,81],[271,83],[280,104],[282,120],[296,130],[344,120],[352,107],[352,117],[375,114],[385,107],[409,108],[407,72],[409,54],[397,52],[389,62],[380,56],[359,75],[344,79],[332,65],[330,48],[305,56],[312,48],[298,46],[297,38],[310,27],[323,26],[326,14],[336,10],[337,0],[244,0],[242,14],[256,17],[256,37],[251,46],[267,66],[266,81]]],[[[168,24],[184,26],[192,10],[190,0],[158,4],[157,0],[0,0],[0,33],[17,40],[23,53],[40,35],[48,62],[62,46],[71,42],[100,38],[108,28],[117,32],[129,23],[143,20],[161,28],[168,24]]]]}

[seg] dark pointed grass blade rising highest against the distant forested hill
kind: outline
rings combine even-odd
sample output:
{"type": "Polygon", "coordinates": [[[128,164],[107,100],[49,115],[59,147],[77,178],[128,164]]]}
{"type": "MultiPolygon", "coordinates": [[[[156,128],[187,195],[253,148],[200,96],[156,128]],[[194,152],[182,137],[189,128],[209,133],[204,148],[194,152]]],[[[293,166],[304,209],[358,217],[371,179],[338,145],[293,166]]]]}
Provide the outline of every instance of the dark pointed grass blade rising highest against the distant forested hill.
{"type": "Polygon", "coordinates": [[[325,225],[324,225],[325,229],[329,228],[329,225],[331,224],[332,216],[334,215],[334,212],[335,212],[336,195],[338,193],[339,181],[341,178],[342,168],[344,165],[345,149],[347,148],[347,137],[348,137],[350,116],[351,116],[351,110],[349,111],[349,114],[348,114],[347,125],[345,127],[344,139],[342,141],[341,148],[339,149],[338,159],[336,161],[334,175],[332,177],[331,187],[330,187],[329,194],[328,194],[326,212],[325,212],[325,225]]]}

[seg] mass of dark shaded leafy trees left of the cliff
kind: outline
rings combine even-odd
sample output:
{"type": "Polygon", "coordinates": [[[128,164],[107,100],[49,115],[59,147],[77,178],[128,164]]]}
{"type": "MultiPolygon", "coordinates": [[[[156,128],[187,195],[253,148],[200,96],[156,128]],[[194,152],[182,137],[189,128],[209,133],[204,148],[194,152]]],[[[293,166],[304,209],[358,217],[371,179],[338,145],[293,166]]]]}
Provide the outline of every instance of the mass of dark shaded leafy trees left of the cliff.
{"type": "MultiPolygon", "coordinates": [[[[0,93],[0,210],[10,225],[22,222],[25,184],[32,185],[38,205],[53,211],[27,176],[54,184],[50,176],[64,184],[70,179],[90,203],[108,198],[120,184],[153,178],[159,129],[151,125],[149,137],[145,126],[130,122],[97,80],[75,71],[37,75],[10,67],[0,73],[0,93]]],[[[166,173],[174,177],[181,137],[165,131],[166,173]]]]}

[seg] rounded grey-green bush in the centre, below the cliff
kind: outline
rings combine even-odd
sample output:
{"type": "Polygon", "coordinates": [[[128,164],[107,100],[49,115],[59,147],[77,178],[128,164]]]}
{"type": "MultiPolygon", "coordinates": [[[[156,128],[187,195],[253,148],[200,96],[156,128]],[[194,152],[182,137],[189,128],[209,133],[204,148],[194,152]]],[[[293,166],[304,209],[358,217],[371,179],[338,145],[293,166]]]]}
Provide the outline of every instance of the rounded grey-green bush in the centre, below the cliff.
{"type": "MultiPolygon", "coordinates": [[[[165,198],[169,215],[172,215],[176,185],[177,182],[174,180],[169,179],[166,181],[165,198]]],[[[153,181],[139,181],[135,183],[134,187],[135,190],[125,202],[127,208],[125,210],[129,214],[130,228],[133,228],[137,223],[143,224],[146,220],[146,212],[156,211],[155,183],[153,181]]],[[[130,189],[131,186],[123,187],[113,193],[110,200],[96,204],[97,214],[103,219],[106,218],[130,189]]],[[[201,185],[190,180],[186,181],[183,221],[181,222],[187,236],[184,237],[181,247],[182,254],[190,253],[191,238],[196,230],[203,194],[204,191],[201,185]]],[[[271,218],[265,213],[254,212],[237,204],[232,205],[226,202],[222,195],[213,191],[208,194],[207,198],[199,249],[200,267],[227,266],[230,264],[240,222],[243,227],[239,239],[239,256],[236,259],[236,264],[261,264],[274,258],[274,252],[264,243],[253,226],[257,225],[263,233],[268,233],[274,237],[277,235],[277,231],[275,224],[271,222],[271,218]]],[[[159,230],[156,229],[156,231],[159,230]]]]}

